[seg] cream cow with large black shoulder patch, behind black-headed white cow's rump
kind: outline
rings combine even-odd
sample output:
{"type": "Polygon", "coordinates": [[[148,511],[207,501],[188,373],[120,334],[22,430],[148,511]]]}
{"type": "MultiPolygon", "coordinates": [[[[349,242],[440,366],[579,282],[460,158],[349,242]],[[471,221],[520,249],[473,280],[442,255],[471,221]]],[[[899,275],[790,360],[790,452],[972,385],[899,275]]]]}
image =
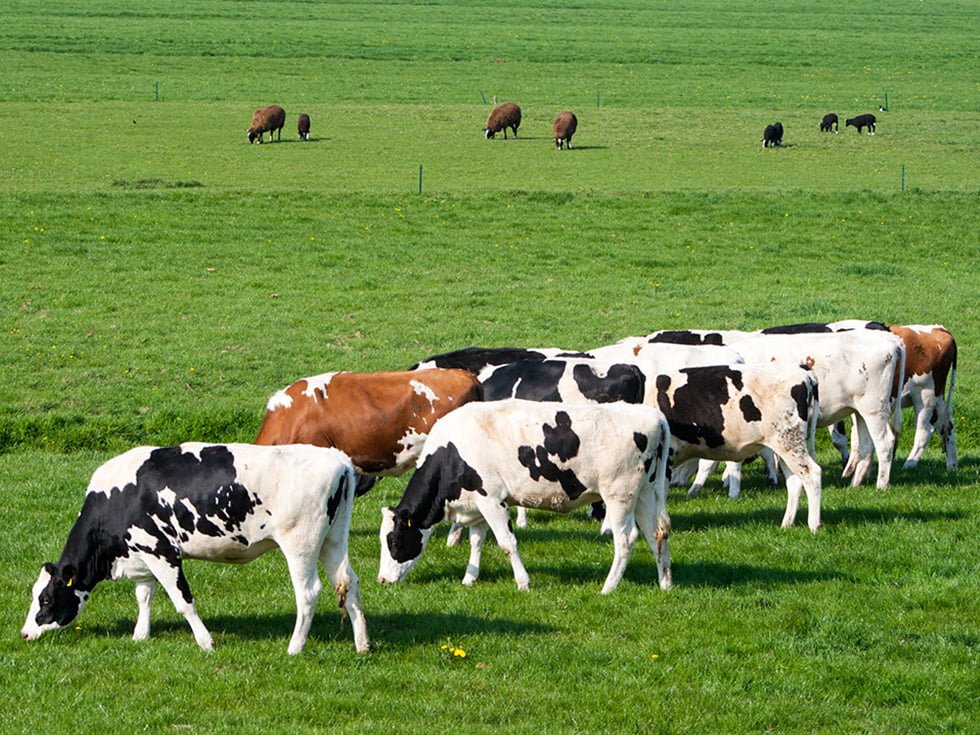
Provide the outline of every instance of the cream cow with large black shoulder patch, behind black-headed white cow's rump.
{"type": "Polygon", "coordinates": [[[820,408],[811,371],[796,365],[707,365],[647,380],[655,390],[647,402],[670,423],[672,465],[692,458],[740,462],[768,448],[786,476],[783,527],[793,525],[803,489],[807,524],[816,533],[821,471],[812,454],[820,408]]]}

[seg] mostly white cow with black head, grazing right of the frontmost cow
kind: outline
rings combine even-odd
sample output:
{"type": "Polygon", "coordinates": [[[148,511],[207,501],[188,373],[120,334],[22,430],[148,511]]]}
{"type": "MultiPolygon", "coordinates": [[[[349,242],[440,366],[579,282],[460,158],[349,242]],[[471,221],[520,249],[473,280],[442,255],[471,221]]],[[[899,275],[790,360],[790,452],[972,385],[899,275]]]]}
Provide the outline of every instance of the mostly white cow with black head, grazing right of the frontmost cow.
{"type": "Polygon", "coordinates": [[[517,554],[508,505],[567,513],[604,500],[603,531],[614,540],[602,593],[623,577],[637,526],[657,560],[660,586],[671,585],[665,503],[670,429],[649,406],[550,405],[511,399],[473,403],[432,429],[401,501],[381,511],[379,582],[397,582],[415,564],[436,523],[471,526],[463,584],[480,573],[489,527],[510,559],[518,589],[527,570],[517,554]]]}

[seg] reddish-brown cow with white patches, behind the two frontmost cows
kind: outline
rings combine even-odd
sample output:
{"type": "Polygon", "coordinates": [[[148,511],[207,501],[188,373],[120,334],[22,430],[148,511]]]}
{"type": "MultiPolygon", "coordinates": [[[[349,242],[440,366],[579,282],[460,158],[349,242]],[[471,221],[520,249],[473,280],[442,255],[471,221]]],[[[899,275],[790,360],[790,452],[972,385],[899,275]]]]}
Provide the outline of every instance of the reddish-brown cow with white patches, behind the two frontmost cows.
{"type": "MultiPolygon", "coordinates": [[[[337,447],[366,475],[400,475],[437,419],[482,398],[480,382],[464,370],[324,373],[269,399],[255,443],[337,447]]],[[[358,495],[373,484],[362,478],[358,495]]]]}

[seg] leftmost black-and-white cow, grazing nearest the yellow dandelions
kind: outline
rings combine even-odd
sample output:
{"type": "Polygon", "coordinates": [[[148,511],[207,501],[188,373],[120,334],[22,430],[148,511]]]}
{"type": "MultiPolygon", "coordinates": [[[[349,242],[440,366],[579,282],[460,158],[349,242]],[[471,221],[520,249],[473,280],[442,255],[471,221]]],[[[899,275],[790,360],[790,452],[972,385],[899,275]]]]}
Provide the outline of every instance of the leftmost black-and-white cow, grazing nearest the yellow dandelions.
{"type": "Polygon", "coordinates": [[[310,446],[181,444],[138,447],[92,475],[57,564],[38,576],[21,635],[69,625],[104,579],[136,581],[134,640],[150,634],[157,584],[213,647],[194,607],[182,558],[244,564],[279,547],[296,592],[289,653],[303,650],[321,583],[317,560],[350,615],[354,645],[369,647],[360,585],[347,557],[354,467],[342,452],[310,446]]]}

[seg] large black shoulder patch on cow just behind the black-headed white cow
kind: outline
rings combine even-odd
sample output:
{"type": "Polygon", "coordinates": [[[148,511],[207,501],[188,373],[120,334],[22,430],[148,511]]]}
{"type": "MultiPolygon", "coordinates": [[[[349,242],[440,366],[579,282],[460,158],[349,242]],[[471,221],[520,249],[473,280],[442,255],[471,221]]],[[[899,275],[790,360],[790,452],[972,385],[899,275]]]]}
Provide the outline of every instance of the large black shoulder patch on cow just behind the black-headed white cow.
{"type": "Polygon", "coordinates": [[[667,396],[670,376],[657,376],[657,406],[667,417],[671,433],[689,444],[720,447],[725,443],[725,419],[721,408],[729,400],[729,381],[742,387],[742,373],[727,365],[684,368],[687,383],[667,396]]]}

